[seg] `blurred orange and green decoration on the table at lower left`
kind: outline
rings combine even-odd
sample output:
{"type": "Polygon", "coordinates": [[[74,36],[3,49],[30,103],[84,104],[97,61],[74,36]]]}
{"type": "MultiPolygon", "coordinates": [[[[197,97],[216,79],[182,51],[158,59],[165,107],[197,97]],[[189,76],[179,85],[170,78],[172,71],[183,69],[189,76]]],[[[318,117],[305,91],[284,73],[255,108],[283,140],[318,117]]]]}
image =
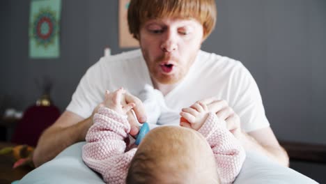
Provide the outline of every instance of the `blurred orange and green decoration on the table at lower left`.
{"type": "Polygon", "coordinates": [[[6,147],[0,150],[0,155],[11,154],[15,159],[15,163],[13,164],[13,169],[17,167],[22,167],[23,165],[27,165],[29,167],[35,168],[33,164],[33,151],[34,148],[32,146],[28,146],[26,144],[6,147]]]}

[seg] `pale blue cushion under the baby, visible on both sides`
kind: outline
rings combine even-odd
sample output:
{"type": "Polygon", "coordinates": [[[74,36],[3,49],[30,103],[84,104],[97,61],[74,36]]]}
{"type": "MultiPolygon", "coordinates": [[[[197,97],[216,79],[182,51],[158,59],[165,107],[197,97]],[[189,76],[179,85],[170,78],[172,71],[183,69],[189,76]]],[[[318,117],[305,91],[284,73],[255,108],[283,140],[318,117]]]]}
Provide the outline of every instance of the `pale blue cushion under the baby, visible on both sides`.
{"type": "MultiPolygon", "coordinates": [[[[101,176],[89,169],[81,159],[81,147],[85,142],[69,146],[59,155],[24,176],[24,183],[104,183],[101,176]]],[[[239,183],[316,183],[293,169],[282,167],[264,155],[248,152],[247,158],[236,178],[239,183]]]]}

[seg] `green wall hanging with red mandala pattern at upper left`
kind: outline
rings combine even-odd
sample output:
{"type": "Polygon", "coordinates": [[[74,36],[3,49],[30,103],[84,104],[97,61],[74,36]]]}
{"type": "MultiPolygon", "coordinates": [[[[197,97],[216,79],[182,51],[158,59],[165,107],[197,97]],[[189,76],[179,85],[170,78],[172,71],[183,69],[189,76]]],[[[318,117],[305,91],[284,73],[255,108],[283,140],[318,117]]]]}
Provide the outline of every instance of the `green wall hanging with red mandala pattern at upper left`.
{"type": "Polygon", "coordinates": [[[29,56],[32,59],[60,56],[61,0],[33,0],[29,16],[29,56]]]}

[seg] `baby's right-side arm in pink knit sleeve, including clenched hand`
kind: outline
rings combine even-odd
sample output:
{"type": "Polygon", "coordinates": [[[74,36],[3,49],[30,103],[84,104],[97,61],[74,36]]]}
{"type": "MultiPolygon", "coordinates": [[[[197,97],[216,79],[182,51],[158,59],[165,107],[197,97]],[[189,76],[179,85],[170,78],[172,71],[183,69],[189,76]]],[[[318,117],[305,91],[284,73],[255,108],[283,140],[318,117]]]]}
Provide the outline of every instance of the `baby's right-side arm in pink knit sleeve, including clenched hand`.
{"type": "Polygon", "coordinates": [[[240,172],[245,152],[240,141],[227,130],[225,121],[209,112],[208,107],[201,102],[184,108],[180,115],[181,126],[197,130],[210,144],[221,182],[232,183],[240,172]]]}

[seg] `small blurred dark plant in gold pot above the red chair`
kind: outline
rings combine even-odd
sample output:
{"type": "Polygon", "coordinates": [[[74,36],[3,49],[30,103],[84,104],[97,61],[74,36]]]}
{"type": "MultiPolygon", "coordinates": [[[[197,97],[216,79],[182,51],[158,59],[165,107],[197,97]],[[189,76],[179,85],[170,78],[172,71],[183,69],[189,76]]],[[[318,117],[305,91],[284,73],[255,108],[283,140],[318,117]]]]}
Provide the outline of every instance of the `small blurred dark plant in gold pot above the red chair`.
{"type": "Polygon", "coordinates": [[[50,98],[50,92],[52,89],[52,81],[49,77],[44,77],[42,82],[36,80],[36,84],[40,90],[42,90],[42,95],[38,100],[36,100],[36,105],[38,106],[50,106],[52,105],[52,100],[50,98]]]}

